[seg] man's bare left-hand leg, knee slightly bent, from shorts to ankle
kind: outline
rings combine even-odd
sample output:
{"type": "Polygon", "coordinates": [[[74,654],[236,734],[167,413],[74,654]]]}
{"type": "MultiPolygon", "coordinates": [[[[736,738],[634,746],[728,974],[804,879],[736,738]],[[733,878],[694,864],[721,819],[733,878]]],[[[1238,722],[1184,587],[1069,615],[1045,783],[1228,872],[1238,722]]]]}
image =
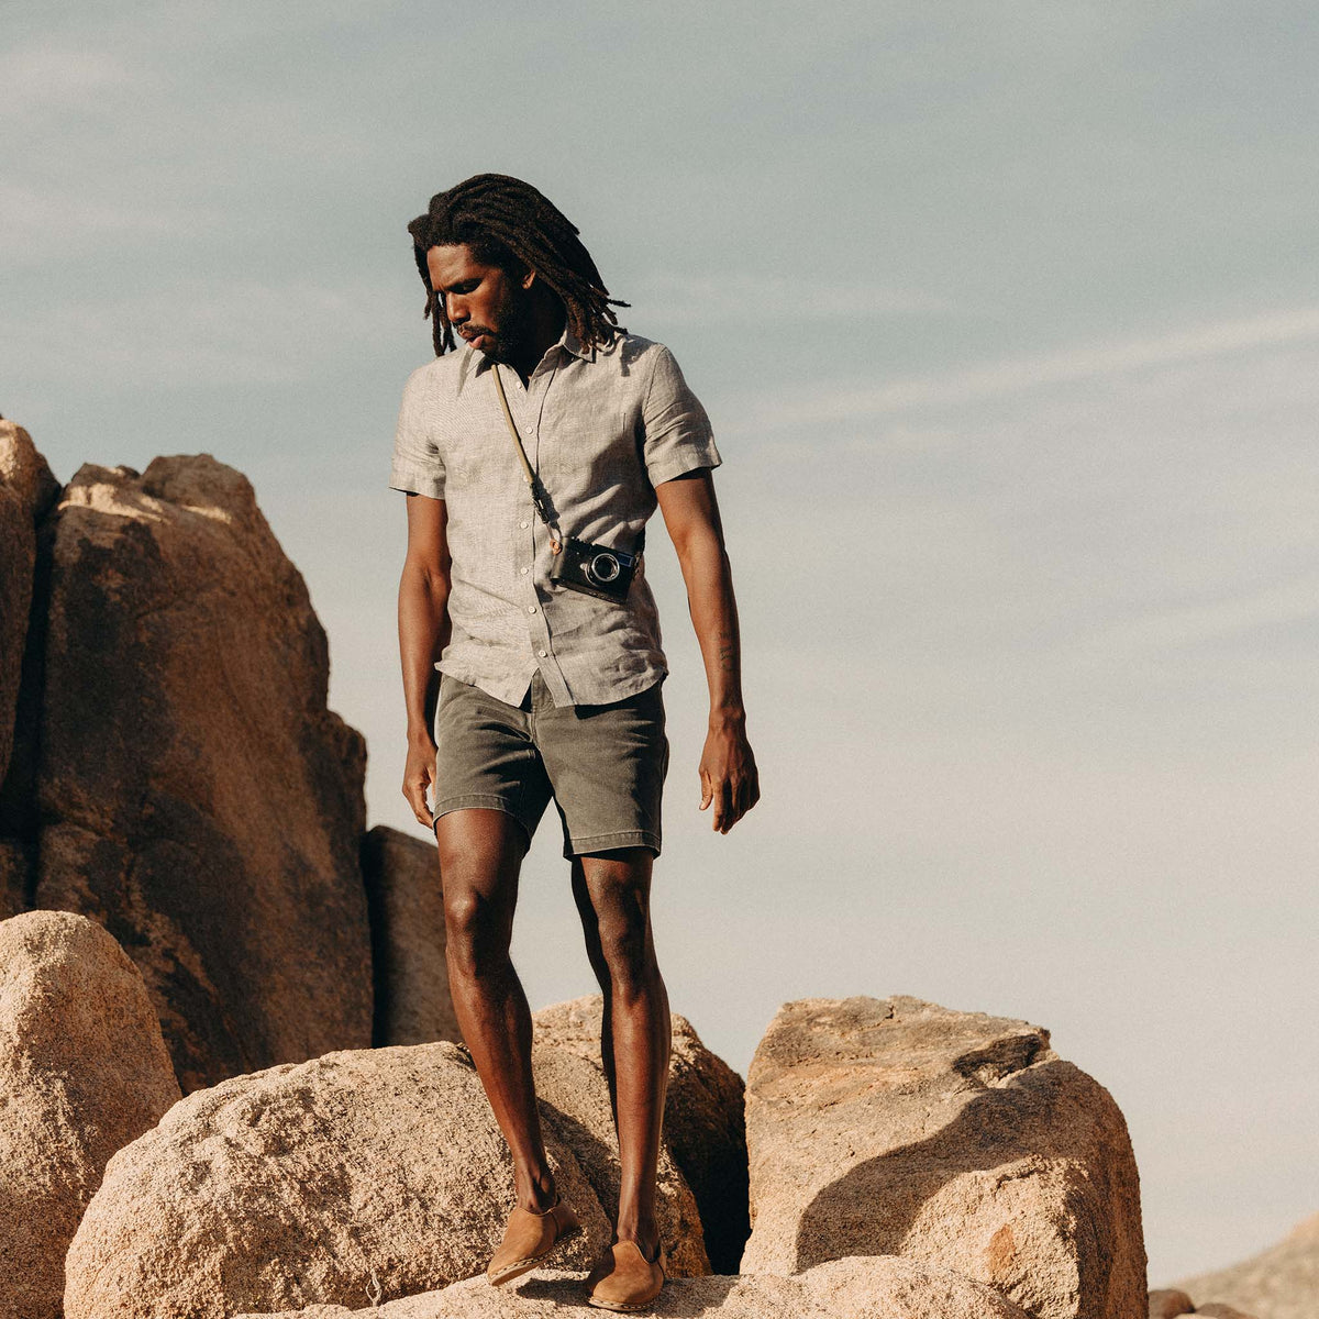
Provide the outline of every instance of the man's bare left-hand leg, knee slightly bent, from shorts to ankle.
{"type": "Polygon", "coordinates": [[[508,955],[526,834],[504,811],[468,809],[442,815],[435,842],[454,1013],[513,1155],[517,1203],[541,1213],[554,1177],[532,1080],[532,1012],[508,955]]]}

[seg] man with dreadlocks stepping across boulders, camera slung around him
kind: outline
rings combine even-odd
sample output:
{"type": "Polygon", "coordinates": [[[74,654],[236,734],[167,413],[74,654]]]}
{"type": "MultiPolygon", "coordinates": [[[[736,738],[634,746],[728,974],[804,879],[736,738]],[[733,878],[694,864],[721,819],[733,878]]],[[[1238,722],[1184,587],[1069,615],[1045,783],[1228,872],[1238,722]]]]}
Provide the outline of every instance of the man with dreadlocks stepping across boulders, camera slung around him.
{"type": "Polygon", "coordinates": [[[408,231],[435,360],[405,386],[389,481],[408,493],[404,795],[435,832],[454,1008],[513,1157],[517,1203],[487,1275],[514,1278],[580,1229],[546,1159],[509,960],[518,869],[553,797],[604,995],[621,1165],[615,1241],[588,1297],[642,1308],[665,1277],[654,1183],[670,1020],[650,876],[667,667],[644,557],[630,580],[627,567],[658,506],[710,687],[700,809],[727,834],[760,789],[711,479],[720,455],[673,355],[619,327],[611,309],[627,303],[534,187],[477,174],[408,231]]]}

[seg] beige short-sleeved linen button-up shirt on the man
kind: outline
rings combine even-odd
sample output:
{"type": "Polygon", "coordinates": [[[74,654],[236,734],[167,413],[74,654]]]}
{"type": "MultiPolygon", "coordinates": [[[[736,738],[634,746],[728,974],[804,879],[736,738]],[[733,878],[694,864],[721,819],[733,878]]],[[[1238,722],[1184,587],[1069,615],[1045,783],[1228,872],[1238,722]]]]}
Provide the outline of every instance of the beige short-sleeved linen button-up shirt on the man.
{"type": "MultiPolygon", "coordinates": [[[[464,344],[418,367],[398,410],[389,485],[447,505],[452,633],[435,667],[514,706],[537,669],[555,706],[623,700],[669,671],[645,558],[621,603],[550,582],[550,533],[492,369],[464,344]]],[[[620,334],[583,348],[566,328],[525,386],[512,367],[497,369],[565,536],[630,550],[656,485],[721,462],[704,408],[661,343],[620,334]]]]}

